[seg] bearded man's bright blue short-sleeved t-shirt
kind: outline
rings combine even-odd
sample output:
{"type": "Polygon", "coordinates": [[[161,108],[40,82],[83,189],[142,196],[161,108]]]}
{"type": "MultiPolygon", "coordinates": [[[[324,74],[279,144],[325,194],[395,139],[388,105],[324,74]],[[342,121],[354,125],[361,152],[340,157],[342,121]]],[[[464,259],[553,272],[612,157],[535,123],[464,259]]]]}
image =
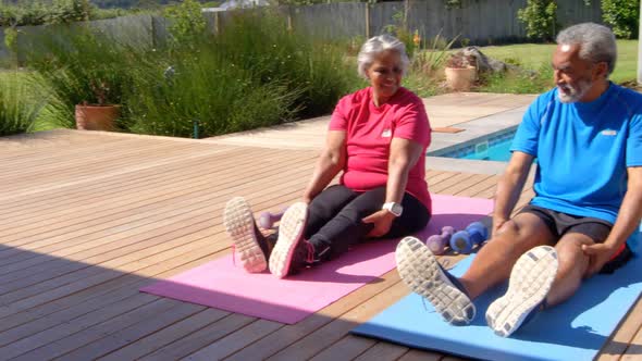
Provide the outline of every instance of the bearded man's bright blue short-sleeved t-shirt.
{"type": "Polygon", "coordinates": [[[642,165],[642,95],[610,84],[592,102],[563,103],[553,89],[530,105],[510,150],[538,158],[531,204],[613,224],[627,167],[642,165]]]}

